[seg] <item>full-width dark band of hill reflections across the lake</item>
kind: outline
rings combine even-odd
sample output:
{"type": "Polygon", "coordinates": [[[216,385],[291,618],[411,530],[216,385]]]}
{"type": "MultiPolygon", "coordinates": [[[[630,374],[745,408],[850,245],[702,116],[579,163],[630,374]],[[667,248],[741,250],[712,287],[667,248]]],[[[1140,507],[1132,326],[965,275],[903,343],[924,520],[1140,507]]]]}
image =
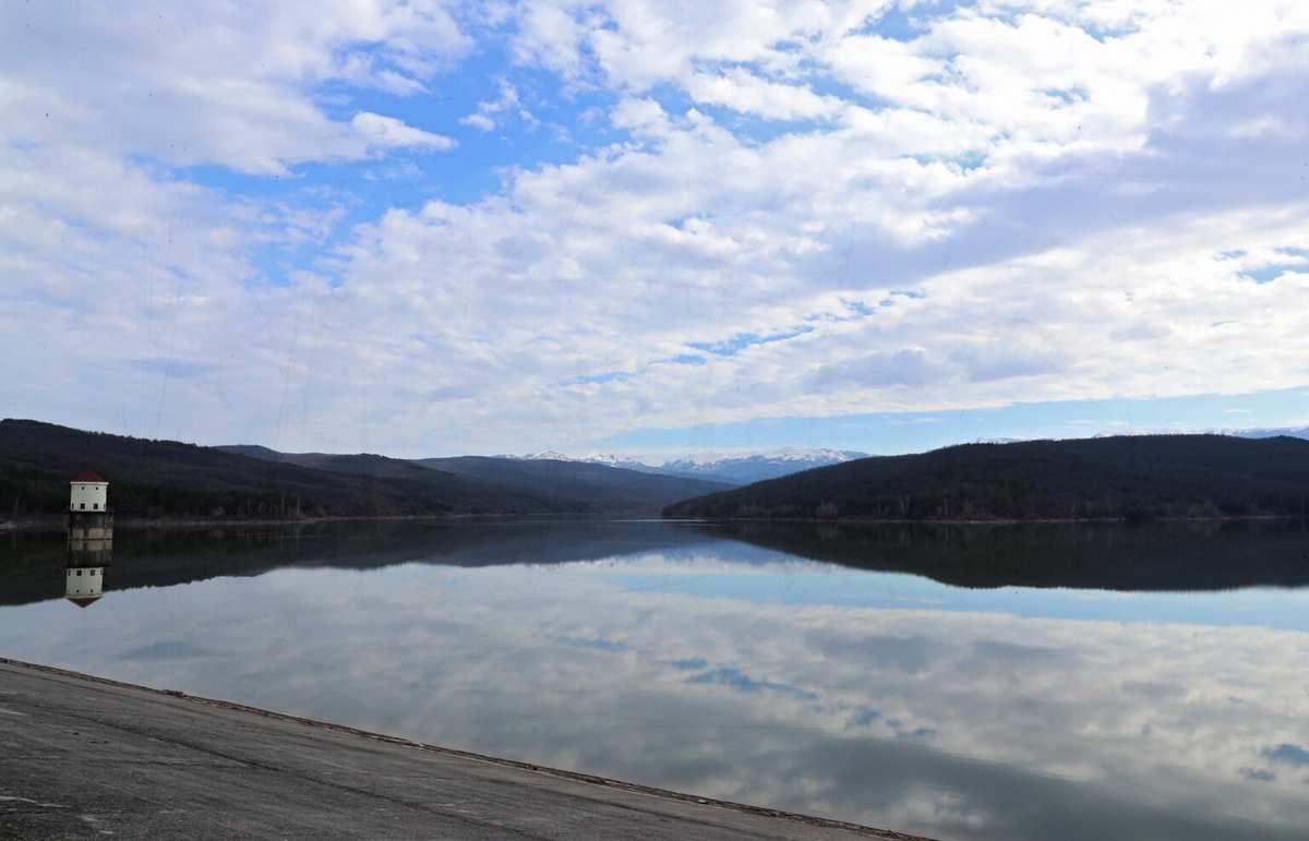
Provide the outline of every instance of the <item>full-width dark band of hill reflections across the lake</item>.
{"type": "MultiPolygon", "coordinates": [[[[335,523],[289,528],[119,529],[105,591],[168,587],[281,567],[373,570],[399,563],[572,563],[740,541],[957,587],[1212,591],[1309,586],[1302,521],[1139,525],[822,525],[658,521],[335,523]]],[[[63,596],[65,541],[0,544],[0,605],[63,596]]]]}

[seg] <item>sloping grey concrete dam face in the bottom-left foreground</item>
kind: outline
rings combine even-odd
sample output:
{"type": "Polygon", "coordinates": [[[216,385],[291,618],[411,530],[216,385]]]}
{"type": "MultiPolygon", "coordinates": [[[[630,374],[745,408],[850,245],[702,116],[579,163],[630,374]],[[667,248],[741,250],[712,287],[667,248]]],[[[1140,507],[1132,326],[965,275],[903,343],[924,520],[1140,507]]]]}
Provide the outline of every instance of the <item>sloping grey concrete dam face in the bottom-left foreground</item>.
{"type": "Polygon", "coordinates": [[[0,659],[0,838],[897,838],[0,659]]]}

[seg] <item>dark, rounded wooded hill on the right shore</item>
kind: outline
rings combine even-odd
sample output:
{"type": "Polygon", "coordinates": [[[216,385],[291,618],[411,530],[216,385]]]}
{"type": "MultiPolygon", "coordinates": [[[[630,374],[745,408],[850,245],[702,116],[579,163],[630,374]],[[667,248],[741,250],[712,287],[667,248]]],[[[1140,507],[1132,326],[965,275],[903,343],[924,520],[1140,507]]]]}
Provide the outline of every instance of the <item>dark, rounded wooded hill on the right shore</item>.
{"type": "Polygon", "coordinates": [[[962,444],[861,458],[664,510],[673,517],[872,520],[1301,515],[1309,441],[1149,435],[962,444]]]}

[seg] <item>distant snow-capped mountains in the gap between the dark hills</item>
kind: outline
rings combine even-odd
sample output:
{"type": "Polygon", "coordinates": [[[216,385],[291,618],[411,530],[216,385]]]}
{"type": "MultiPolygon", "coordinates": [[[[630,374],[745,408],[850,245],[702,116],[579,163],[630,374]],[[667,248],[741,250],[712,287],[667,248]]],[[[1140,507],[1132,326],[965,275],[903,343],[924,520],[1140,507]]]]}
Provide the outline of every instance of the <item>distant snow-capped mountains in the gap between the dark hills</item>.
{"type": "Polygon", "coordinates": [[[551,461],[584,461],[588,464],[603,464],[611,468],[637,470],[640,473],[660,473],[664,476],[694,477],[700,479],[713,479],[717,482],[730,482],[733,485],[749,485],[763,479],[775,479],[810,468],[823,468],[830,464],[840,464],[855,458],[868,458],[868,453],[852,449],[827,449],[822,447],[784,447],[767,452],[719,456],[708,458],[675,458],[661,465],[649,465],[636,458],[624,458],[613,453],[593,453],[584,458],[572,458],[560,452],[546,449],[526,453],[522,456],[497,456],[497,458],[517,460],[551,460],[551,461]]]}

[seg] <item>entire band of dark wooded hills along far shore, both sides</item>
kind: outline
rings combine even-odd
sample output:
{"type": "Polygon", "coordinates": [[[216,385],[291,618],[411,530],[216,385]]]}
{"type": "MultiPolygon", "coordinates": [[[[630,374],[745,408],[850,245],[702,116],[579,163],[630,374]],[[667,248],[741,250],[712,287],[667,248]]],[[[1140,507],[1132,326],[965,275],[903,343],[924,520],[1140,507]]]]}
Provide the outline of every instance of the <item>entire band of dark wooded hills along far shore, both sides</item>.
{"type": "Polygon", "coordinates": [[[886,523],[1309,514],[1309,440],[1287,436],[961,444],[745,487],[568,461],[470,456],[441,460],[453,469],[436,469],[367,453],[251,457],[230,449],[242,448],[0,421],[0,524],[58,523],[69,478],[85,469],[110,477],[120,525],[636,512],[886,523]]]}

